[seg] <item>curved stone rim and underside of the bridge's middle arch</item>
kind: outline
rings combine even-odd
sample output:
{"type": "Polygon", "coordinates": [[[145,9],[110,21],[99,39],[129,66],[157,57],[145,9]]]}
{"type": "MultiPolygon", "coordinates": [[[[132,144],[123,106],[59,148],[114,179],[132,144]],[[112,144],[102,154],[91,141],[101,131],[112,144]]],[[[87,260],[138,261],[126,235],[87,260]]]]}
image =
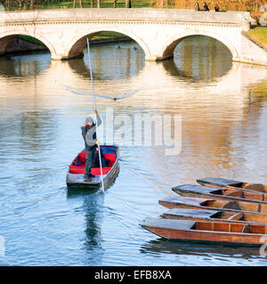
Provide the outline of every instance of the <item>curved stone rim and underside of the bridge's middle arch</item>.
{"type": "Polygon", "coordinates": [[[89,39],[93,36],[97,35],[98,33],[101,33],[103,31],[110,31],[110,32],[117,32],[120,34],[123,34],[125,36],[128,36],[132,38],[136,43],[138,43],[142,50],[145,53],[145,56],[150,56],[150,49],[146,43],[142,41],[141,38],[138,36],[135,36],[133,33],[123,29],[123,28],[109,28],[109,27],[98,27],[98,28],[90,28],[82,33],[80,33],[78,36],[75,36],[66,46],[66,49],[64,51],[64,57],[62,59],[69,59],[69,58],[75,58],[78,56],[83,55],[85,46],[86,46],[86,38],[89,39]]]}

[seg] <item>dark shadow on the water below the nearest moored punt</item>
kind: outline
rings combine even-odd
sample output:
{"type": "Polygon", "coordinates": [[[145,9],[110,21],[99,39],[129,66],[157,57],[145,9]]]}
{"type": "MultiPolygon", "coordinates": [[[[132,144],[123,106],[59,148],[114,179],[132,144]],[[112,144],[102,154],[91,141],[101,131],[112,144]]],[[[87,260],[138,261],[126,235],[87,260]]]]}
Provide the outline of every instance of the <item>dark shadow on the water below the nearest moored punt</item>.
{"type": "Polygon", "coordinates": [[[260,255],[259,247],[235,246],[231,244],[170,241],[160,238],[142,244],[140,251],[141,253],[149,253],[153,256],[160,256],[161,254],[177,256],[221,256],[222,258],[225,257],[225,259],[235,257],[246,260],[262,257],[262,261],[267,263],[266,257],[260,255]]]}

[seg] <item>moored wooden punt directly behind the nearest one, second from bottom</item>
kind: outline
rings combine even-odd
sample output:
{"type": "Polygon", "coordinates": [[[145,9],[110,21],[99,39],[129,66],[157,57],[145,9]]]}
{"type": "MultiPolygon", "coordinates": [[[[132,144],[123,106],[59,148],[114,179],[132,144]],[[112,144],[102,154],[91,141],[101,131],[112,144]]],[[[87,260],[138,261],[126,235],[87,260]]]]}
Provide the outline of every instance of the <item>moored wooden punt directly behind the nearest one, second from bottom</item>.
{"type": "Polygon", "coordinates": [[[266,224],[267,214],[231,212],[224,210],[205,209],[181,209],[174,208],[163,213],[162,217],[168,219],[190,220],[190,221],[211,221],[211,222],[232,222],[241,224],[266,224]]]}

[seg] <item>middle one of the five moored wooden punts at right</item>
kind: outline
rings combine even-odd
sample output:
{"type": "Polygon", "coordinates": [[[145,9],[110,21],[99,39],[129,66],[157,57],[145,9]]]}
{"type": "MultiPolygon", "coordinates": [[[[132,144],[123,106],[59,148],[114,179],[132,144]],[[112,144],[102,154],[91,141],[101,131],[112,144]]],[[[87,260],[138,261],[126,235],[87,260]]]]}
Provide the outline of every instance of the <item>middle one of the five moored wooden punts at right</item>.
{"type": "Polygon", "coordinates": [[[255,203],[247,201],[222,201],[216,199],[204,199],[204,198],[191,198],[182,196],[170,196],[158,203],[166,208],[186,208],[186,209],[213,209],[213,210],[225,210],[234,212],[257,212],[267,213],[267,204],[255,203]]]}

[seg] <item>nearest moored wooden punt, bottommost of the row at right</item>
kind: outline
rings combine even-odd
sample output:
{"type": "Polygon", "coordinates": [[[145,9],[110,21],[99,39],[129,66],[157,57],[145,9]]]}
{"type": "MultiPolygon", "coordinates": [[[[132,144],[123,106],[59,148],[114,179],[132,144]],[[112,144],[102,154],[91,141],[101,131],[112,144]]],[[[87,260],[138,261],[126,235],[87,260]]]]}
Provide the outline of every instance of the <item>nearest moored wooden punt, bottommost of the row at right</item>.
{"type": "Polygon", "coordinates": [[[205,241],[240,245],[263,245],[267,225],[146,218],[142,227],[169,240],[205,241]]]}

